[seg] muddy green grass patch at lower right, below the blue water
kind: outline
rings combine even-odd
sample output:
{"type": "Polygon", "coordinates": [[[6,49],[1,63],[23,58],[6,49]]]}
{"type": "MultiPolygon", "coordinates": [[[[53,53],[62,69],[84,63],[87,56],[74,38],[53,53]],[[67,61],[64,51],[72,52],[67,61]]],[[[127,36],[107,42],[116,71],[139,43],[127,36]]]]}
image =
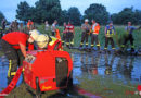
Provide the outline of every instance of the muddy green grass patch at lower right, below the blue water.
{"type": "Polygon", "coordinates": [[[119,79],[114,78],[113,81],[111,76],[102,77],[100,75],[94,75],[92,78],[84,75],[78,79],[80,88],[102,98],[140,98],[139,94],[131,94],[137,91],[137,85],[131,85],[130,82],[125,85],[119,79]]]}

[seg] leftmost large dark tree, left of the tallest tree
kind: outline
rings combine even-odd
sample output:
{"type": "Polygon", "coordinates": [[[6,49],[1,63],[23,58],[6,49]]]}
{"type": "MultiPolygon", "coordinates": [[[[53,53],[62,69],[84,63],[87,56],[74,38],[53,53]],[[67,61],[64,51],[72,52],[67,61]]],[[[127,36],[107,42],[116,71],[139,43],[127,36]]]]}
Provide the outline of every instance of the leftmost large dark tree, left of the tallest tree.
{"type": "Polygon", "coordinates": [[[16,19],[25,22],[28,21],[31,16],[29,4],[26,1],[20,2],[20,4],[17,4],[16,13],[16,19]]]}

